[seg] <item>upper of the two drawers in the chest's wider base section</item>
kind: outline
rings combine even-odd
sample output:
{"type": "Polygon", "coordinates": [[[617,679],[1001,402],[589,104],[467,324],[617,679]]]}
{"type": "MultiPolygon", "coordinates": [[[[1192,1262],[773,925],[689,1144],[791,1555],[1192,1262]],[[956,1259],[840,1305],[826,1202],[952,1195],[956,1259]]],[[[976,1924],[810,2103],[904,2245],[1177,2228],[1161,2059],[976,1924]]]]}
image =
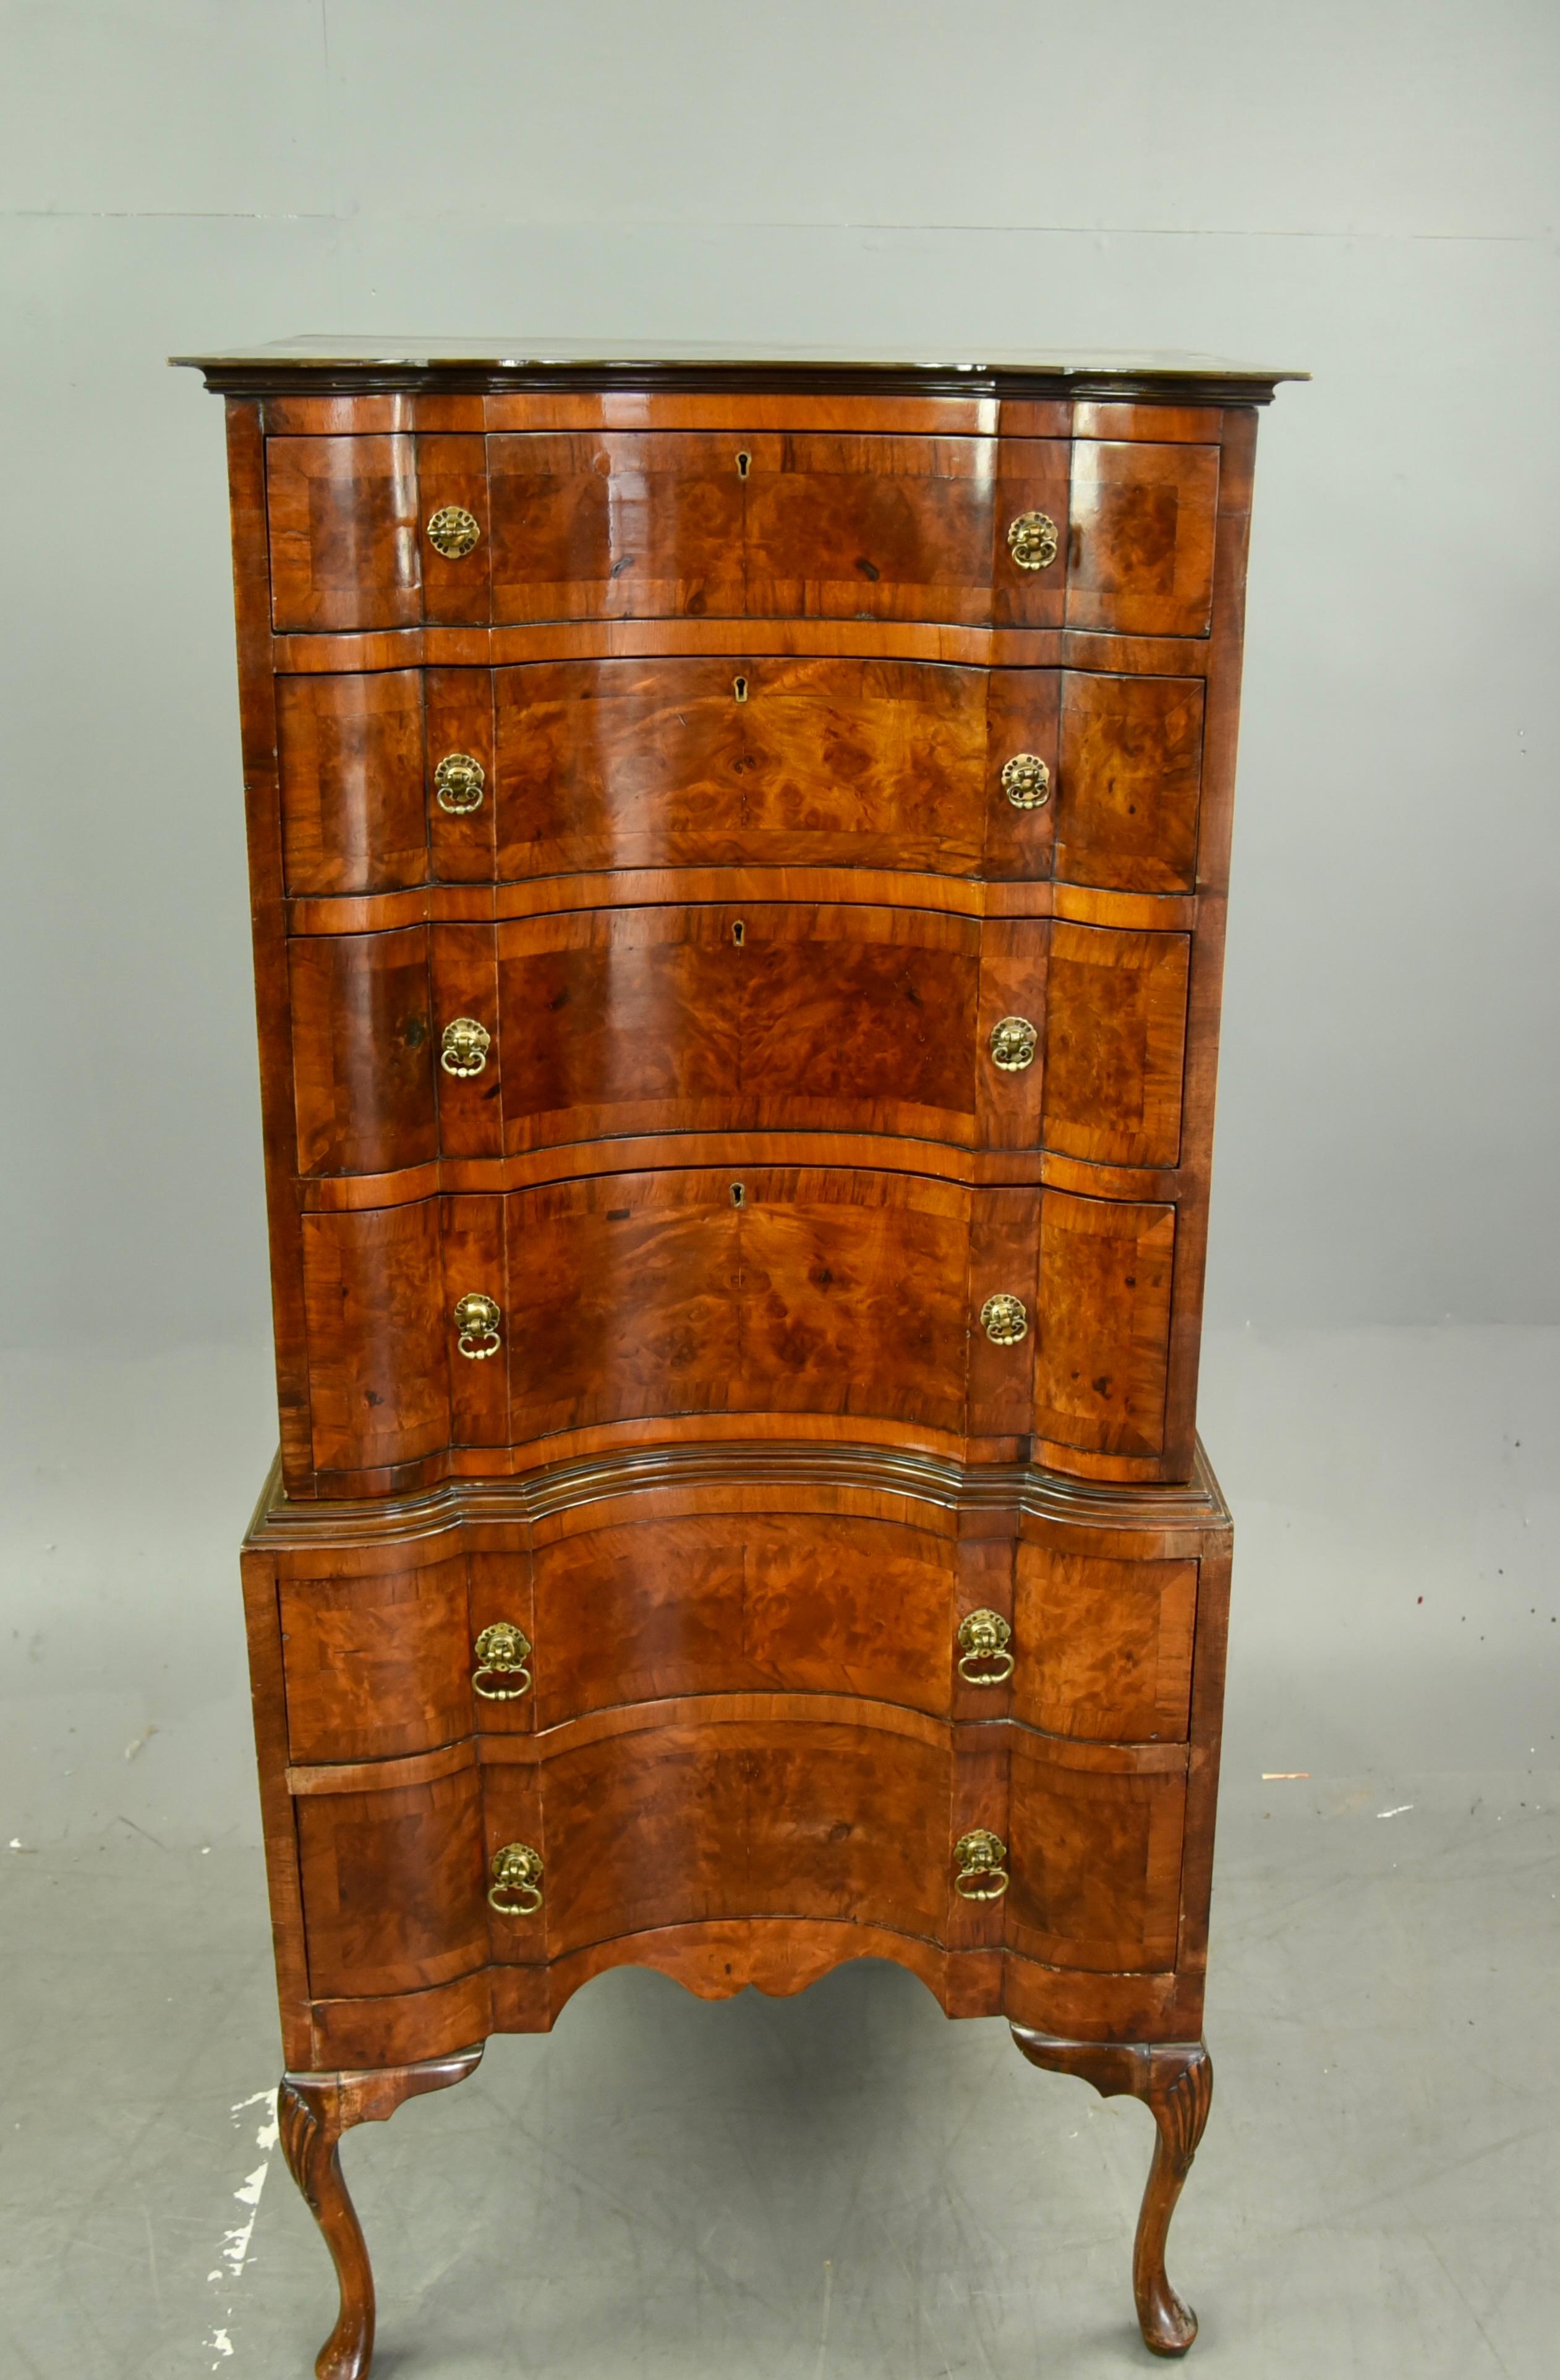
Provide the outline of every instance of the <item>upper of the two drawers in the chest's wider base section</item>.
{"type": "Polygon", "coordinates": [[[1007,1540],[753,1497],[741,1521],[726,1502],[586,1518],[543,1526],[529,1552],[288,1559],[288,1756],[381,1761],[619,1704],[755,1692],[1015,1716],[1091,1742],[1186,1740],[1196,1561],[1019,1542],[1015,1568],[1007,1540]],[[960,1640],[972,1611],[1012,1630],[1003,1659],[960,1640]],[[495,1626],[524,1640],[512,1668],[476,1649],[495,1626]]]}

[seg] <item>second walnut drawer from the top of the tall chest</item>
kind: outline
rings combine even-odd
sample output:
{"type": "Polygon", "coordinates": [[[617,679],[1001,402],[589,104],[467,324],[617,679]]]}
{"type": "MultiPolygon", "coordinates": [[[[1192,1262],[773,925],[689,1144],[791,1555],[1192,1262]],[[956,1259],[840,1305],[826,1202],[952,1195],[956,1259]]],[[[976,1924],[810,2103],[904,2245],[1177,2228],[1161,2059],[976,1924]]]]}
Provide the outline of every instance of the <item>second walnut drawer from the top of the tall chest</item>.
{"type": "Polygon", "coordinates": [[[526,662],[279,678],[288,892],[865,866],[1184,892],[1203,681],[948,662],[526,662]],[[481,769],[450,812],[438,766],[481,769]],[[1043,762],[1017,807],[1003,769],[1043,762]]]}

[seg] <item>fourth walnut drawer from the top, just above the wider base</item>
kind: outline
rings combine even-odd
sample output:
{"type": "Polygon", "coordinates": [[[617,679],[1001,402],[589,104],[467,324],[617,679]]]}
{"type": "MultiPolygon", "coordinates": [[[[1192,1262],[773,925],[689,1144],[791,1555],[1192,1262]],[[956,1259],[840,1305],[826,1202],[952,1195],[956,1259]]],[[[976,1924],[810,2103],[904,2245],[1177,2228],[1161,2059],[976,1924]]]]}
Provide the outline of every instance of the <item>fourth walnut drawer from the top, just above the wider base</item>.
{"type": "Polygon", "coordinates": [[[1169,1204],[829,1166],[305,1214],[314,1464],[374,1492],[352,1476],[691,1414],[1157,1459],[1174,1245],[1169,1204]],[[488,1359],[457,1349],[469,1295],[500,1309],[488,1359]],[[1015,1345],[981,1328],[996,1295],[1024,1307],[1015,1345]]]}

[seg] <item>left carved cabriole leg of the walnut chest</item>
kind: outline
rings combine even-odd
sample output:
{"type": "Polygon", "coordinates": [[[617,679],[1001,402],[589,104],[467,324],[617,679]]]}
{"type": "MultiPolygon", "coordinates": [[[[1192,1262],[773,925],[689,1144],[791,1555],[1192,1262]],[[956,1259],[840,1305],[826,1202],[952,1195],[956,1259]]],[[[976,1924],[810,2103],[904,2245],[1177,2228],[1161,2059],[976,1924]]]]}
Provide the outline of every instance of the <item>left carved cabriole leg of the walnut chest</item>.
{"type": "Polygon", "coordinates": [[[405,2099],[424,2090],[462,2082],[479,2059],[481,2044],[422,2066],[281,2078],[281,2154],[324,2232],[341,2282],[341,2313],[314,2361],[319,2380],[364,2380],[374,2359],[374,2271],[341,2173],[341,2135],[355,2123],[388,2123],[405,2099]]]}

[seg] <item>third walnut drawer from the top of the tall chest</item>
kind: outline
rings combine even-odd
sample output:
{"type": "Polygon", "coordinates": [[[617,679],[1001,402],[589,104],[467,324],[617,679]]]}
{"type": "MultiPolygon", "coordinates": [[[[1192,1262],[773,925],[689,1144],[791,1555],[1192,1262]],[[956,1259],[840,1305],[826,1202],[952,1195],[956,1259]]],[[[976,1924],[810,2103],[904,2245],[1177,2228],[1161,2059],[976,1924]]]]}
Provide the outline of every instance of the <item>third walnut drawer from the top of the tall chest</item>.
{"type": "Polygon", "coordinates": [[[660,904],[302,935],[288,969],[302,1176],[750,1130],[1179,1161],[1184,933],[660,904]],[[1005,1019],[1024,1064],[998,1064],[1005,1019]]]}

